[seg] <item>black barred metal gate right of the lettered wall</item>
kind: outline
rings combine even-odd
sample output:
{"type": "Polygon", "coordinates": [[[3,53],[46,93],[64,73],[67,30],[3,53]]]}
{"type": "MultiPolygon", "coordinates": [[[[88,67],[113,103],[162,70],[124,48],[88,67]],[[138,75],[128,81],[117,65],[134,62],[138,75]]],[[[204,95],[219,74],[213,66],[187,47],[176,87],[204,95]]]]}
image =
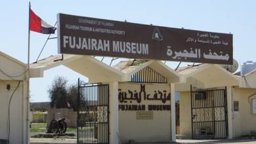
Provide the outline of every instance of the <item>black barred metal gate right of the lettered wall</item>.
{"type": "Polygon", "coordinates": [[[226,88],[192,90],[192,139],[228,137],[226,88]]]}

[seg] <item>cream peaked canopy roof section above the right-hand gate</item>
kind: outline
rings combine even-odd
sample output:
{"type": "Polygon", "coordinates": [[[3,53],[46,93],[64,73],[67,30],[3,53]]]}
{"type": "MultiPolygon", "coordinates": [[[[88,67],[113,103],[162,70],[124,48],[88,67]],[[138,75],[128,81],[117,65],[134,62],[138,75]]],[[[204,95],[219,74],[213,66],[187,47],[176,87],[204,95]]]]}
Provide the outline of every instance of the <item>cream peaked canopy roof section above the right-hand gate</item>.
{"type": "Polygon", "coordinates": [[[177,71],[186,80],[177,84],[177,90],[190,90],[190,84],[199,88],[215,88],[221,86],[239,86],[240,77],[226,71],[221,65],[202,64],[190,66],[177,71]]]}

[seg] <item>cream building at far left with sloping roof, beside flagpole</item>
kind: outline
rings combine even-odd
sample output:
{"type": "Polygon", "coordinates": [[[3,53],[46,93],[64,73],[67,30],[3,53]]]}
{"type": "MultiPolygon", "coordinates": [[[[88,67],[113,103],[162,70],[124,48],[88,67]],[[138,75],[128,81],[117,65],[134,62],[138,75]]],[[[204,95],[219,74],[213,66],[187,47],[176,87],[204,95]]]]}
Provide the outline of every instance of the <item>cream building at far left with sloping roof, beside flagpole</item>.
{"type": "Polygon", "coordinates": [[[0,139],[28,143],[27,65],[0,52],[0,139]]]}

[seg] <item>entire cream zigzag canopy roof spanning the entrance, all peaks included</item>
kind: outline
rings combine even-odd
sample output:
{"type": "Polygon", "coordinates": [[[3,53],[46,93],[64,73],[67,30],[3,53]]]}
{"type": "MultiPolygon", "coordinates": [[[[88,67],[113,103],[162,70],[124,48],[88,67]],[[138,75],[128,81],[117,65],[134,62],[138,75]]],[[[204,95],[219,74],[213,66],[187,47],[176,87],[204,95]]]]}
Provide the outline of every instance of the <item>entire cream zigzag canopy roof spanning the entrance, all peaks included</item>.
{"type": "MultiPolygon", "coordinates": [[[[61,55],[56,55],[39,60],[37,63],[32,63],[30,65],[31,77],[43,77],[43,72],[45,70],[58,65],[64,65],[74,71],[77,71],[77,73],[88,77],[89,82],[125,82],[131,81],[131,75],[137,73],[144,67],[150,67],[154,71],[163,75],[163,77],[166,77],[167,82],[176,83],[175,87],[177,90],[188,90],[190,88],[190,84],[196,84],[202,88],[218,86],[256,88],[256,70],[248,73],[245,77],[240,77],[226,71],[226,69],[220,65],[213,64],[202,64],[198,66],[180,68],[175,72],[173,69],[165,65],[165,63],[158,60],[137,60],[135,63],[133,61],[122,61],[117,63],[114,67],[111,67],[104,62],[100,62],[93,56],[64,54],[63,60],[61,59],[61,55]]],[[[16,62],[16,60],[14,60],[14,62],[16,62]]],[[[23,67],[26,66],[21,62],[16,63],[23,67]]]]}

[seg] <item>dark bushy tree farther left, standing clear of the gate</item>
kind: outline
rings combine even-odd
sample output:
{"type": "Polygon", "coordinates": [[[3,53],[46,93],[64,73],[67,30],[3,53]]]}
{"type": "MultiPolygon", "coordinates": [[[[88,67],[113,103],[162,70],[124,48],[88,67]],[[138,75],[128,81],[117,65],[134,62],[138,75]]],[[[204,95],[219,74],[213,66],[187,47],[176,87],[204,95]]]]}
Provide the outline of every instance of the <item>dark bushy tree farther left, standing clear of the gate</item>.
{"type": "Polygon", "coordinates": [[[51,99],[51,107],[66,108],[68,92],[66,88],[68,80],[65,77],[57,76],[54,78],[51,87],[48,90],[51,99]]]}

